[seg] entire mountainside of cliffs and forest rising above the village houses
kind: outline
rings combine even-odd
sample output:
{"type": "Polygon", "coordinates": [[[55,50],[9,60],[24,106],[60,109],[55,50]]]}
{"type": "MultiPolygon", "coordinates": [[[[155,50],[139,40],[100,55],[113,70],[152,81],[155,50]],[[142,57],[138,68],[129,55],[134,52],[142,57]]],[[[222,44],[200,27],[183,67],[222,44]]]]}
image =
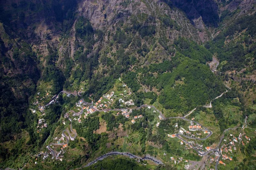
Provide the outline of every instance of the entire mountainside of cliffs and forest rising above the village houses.
{"type": "Polygon", "coordinates": [[[244,94],[244,116],[254,114],[255,18],[253,0],[1,1],[0,142],[23,128],[39,146],[52,134],[39,138],[30,122],[41,84],[99,99],[123,77],[136,105],[149,98],[183,114],[221,94],[224,80],[244,94]],[[206,65],[212,56],[218,77],[206,65]]]}

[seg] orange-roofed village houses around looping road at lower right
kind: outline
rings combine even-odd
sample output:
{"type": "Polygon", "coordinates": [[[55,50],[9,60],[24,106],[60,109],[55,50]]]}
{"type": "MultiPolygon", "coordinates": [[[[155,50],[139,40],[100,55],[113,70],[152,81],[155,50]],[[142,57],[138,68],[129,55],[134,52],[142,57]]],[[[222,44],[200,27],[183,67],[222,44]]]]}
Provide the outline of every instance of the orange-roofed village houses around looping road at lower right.
{"type": "MultiPolygon", "coordinates": [[[[191,120],[194,120],[194,118],[192,118],[191,120]]],[[[183,127],[180,127],[178,129],[178,124],[175,123],[175,125],[173,126],[176,128],[177,133],[167,134],[167,136],[169,138],[175,138],[175,137],[180,138],[177,134],[183,134],[187,137],[187,139],[193,139],[193,138],[200,139],[200,136],[202,135],[202,133],[206,135],[210,133],[208,130],[202,128],[201,125],[198,125],[198,124],[193,125],[192,121],[190,121],[190,124],[191,125],[188,126],[189,130],[185,130],[183,127]],[[203,132],[202,133],[197,132],[199,130],[203,132]],[[196,135],[192,133],[195,133],[196,135]]],[[[157,126],[159,126],[159,124],[157,126]]],[[[226,166],[229,163],[229,161],[233,161],[234,156],[236,157],[235,153],[237,148],[240,148],[241,145],[244,146],[249,142],[250,142],[250,138],[246,136],[245,133],[227,135],[227,137],[223,139],[222,145],[218,149],[221,155],[219,155],[218,152],[215,152],[215,154],[212,154],[212,156],[210,156],[209,158],[209,164],[215,164],[218,161],[219,164],[226,166]]],[[[207,151],[214,149],[211,146],[204,147],[203,144],[199,144],[198,142],[195,142],[195,141],[186,142],[184,139],[182,139],[180,141],[180,145],[183,145],[183,144],[186,150],[193,149],[193,148],[196,149],[199,153],[198,154],[199,156],[202,156],[205,153],[207,153],[207,151]]],[[[170,161],[174,161],[174,164],[179,164],[182,160],[183,160],[182,157],[178,158],[177,160],[174,157],[170,158],[170,161]]],[[[188,161],[186,160],[185,162],[188,162],[188,161]]],[[[186,164],[184,168],[189,169],[189,164],[186,164]]]]}

